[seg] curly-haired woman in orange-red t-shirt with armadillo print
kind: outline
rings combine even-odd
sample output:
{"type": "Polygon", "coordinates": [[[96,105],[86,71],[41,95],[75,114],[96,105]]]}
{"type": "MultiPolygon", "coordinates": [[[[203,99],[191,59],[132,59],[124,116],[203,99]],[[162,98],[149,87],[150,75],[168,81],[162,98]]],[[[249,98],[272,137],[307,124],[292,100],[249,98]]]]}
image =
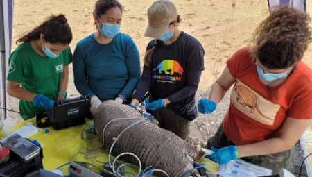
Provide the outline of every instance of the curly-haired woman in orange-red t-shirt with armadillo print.
{"type": "Polygon", "coordinates": [[[293,172],[294,144],[312,119],[312,70],[302,62],[310,17],[284,6],[255,31],[254,46],[236,51],[198,110],[210,113],[234,83],[229,110],[206,158],[224,164],[242,158],[278,174],[293,172]],[[218,149],[215,149],[218,148],[218,149]]]}

